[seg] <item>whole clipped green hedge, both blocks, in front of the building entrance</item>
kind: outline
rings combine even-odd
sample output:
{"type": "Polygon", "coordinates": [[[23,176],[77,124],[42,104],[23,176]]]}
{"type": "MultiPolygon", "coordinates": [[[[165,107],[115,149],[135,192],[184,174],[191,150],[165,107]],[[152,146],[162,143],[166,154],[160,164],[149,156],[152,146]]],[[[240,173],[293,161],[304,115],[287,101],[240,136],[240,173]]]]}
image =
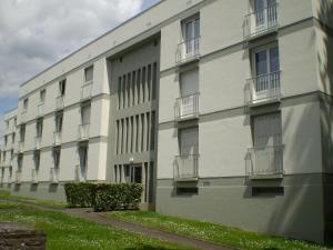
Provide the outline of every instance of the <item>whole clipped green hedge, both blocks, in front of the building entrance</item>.
{"type": "Polygon", "coordinates": [[[94,211],[138,209],[142,194],[138,183],[65,183],[64,190],[71,207],[92,207],[94,211]]]}

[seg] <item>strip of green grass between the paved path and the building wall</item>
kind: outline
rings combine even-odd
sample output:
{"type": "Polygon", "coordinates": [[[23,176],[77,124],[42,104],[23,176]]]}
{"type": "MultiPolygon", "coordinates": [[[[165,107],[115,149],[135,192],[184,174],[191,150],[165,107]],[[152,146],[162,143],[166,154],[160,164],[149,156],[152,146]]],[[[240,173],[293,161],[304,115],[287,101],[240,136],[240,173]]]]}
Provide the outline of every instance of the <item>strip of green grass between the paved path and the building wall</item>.
{"type": "Polygon", "coordinates": [[[281,237],[270,237],[215,223],[162,216],[150,211],[121,211],[107,212],[103,214],[109,218],[117,218],[150,228],[157,228],[169,232],[175,232],[182,236],[212,241],[222,246],[246,250],[329,249],[305,241],[290,240],[281,237]]]}

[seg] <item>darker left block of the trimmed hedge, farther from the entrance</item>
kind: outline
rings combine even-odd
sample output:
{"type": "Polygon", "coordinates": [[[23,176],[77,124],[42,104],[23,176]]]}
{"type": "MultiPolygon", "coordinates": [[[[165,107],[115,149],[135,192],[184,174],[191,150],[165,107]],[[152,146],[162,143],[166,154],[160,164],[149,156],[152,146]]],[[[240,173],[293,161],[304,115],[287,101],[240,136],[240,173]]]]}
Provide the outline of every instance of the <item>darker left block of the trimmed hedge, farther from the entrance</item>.
{"type": "Polygon", "coordinates": [[[91,208],[95,184],[89,182],[71,182],[64,184],[67,202],[74,208],[91,208]]]}

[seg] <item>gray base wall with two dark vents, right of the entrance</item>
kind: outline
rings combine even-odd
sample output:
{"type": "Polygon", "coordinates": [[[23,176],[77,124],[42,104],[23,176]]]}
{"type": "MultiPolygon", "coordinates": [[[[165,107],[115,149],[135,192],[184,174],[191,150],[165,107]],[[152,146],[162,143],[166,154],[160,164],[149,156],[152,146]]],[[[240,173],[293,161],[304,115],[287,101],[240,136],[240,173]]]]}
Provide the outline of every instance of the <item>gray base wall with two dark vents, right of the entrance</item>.
{"type": "MultiPolygon", "coordinates": [[[[178,183],[193,187],[194,182],[178,183]]],[[[198,194],[176,194],[173,180],[158,180],[157,211],[244,230],[324,242],[322,174],[285,176],[283,180],[248,181],[208,178],[198,194]],[[252,187],[284,187],[279,196],[252,196],[252,187]]]]}

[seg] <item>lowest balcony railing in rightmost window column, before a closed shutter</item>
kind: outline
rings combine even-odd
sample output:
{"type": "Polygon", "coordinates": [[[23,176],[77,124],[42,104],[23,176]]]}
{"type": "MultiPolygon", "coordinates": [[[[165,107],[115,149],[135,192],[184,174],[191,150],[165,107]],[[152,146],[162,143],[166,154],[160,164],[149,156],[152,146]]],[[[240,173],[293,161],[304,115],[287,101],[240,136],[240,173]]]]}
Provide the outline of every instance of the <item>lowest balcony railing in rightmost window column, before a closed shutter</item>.
{"type": "Polygon", "coordinates": [[[283,177],[283,146],[274,144],[248,149],[246,173],[250,179],[283,177]]]}

